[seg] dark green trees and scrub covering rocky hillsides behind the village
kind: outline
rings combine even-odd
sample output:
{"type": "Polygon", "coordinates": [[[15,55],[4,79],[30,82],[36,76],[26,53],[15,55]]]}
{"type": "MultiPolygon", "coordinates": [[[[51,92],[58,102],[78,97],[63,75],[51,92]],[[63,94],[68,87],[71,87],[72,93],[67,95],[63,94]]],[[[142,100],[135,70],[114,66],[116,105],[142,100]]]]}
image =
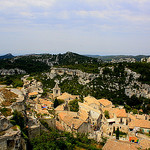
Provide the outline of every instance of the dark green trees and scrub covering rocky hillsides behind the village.
{"type": "MultiPolygon", "coordinates": [[[[145,113],[150,111],[150,99],[142,93],[144,87],[146,87],[146,90],[149,89],[150,63],[104,63],[97,58],[71,52],[58,55],[26,55],[0,60],[0,69],[12,68],[25,70],[27,74],[41,81],[44,88],[43,96],[52,90],[55,81],[58,80],[62,92],[80,95],[81,97],[90,94],[97,99],[107,98],[115,105],[124,105],[128,111],[133,109],[143,109],[145,113]],[[81,70],[83,74],[86,72],[90,76],[94,76],[94,74],[97,76],[91,79],[88,77],[86,80],[89,80],[89,82],[86,84],[79,82],[81,77],[66,73],[64,75],[57,74],[50,78],[46,73],[50,73],[52,66],[81,70]],[[130,72],[139,75],[139,77],[134,77],[133,73],[127,73],[127,69],[130,69],[130,72]],[[126,90],[129,90],[129,94],[126,90]],[[134,91],[139,91],[142,94],[138,95],[134,91]]],[[[81,76],[84,75],[81,73],[81,76]]],[[[21,77],[22,75],[1,75],[0,83],[12,84],[14,87],[22,86],[21,77]]]]}

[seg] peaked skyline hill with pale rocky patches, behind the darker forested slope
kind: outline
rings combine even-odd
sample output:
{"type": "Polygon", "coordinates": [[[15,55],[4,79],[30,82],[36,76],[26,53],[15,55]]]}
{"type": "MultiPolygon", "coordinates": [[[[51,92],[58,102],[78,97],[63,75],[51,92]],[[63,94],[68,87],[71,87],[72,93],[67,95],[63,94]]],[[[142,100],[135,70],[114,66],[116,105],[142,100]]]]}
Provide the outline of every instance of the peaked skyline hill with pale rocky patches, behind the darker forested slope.
{"type": "Polygon", "coordinates": [[[53,65],[73,65],[73,64],[84,64],[99,63],[100,60],[93,57],[87,57],[72,52],[66,52],[64,54],[31,54],[15,57],[15,59],[30,59],[35,61],[41,61],[46,63],[48,66],[53,65]]]}

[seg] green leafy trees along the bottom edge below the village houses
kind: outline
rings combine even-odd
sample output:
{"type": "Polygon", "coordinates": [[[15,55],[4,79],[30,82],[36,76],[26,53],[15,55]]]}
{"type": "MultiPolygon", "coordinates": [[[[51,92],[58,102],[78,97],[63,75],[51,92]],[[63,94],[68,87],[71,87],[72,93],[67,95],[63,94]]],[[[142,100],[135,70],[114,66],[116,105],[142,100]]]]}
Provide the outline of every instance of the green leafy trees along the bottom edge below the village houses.
{"type": "Polygon", "coordinates": [[[71,149],[87,149],[100,150],[94,140],[88,139],[86,134],[76,134],[60,132],[58,130],[50,130],[42,132],[41,136],[32,139],[33,150],[71,150],[71,149]]]}

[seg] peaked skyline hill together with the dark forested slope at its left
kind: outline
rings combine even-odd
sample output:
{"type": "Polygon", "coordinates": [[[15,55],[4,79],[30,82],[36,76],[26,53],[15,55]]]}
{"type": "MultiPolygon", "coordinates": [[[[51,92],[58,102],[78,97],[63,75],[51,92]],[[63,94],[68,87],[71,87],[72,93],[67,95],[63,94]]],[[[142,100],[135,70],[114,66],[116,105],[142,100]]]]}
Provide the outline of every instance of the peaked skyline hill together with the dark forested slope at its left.
{"type": "MultiPolygon", "coordinates": [[[[27,73],[43,72],[51,66],[77,65],[77,64],[99,64],[97,58],[87,57],[72,52],[64,54],[31,54],[16,56],[9,60],[0,60],[0,69],[18,68],[27,73]]],[[[88,65],[87,65],[88,66],[88,65]]]]}

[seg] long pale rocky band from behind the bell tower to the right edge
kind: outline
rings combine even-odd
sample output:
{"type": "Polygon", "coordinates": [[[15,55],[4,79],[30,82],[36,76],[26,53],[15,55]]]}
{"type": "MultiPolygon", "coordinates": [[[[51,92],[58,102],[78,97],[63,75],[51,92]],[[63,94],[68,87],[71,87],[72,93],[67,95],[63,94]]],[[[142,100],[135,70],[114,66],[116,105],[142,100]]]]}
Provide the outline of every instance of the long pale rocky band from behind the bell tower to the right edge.
{"type": "MultiPolygon", "coordinates": [[[[107,67],[110,71],[114,71],[114,67],[107,67]]],[[[63,82],[64,80],[72,80],[74,76],[78,77],[78,83],[89,86],[90,82],[98,77],[104,77],[106,81],[102,81],[104,85],[90,85],[91,88],[100,88],[103,89],[104,86],[107,87],[110,91],[117,91],[117,90],[124,90],[125,94],[129,97],[132,95],[136,95],[137,97],[145,97],[150,98],[150,86],[148,84],[142,84],[138,81],[140,74],[125,68],[124,72],[126,74],[124,83],[120,84],[117,82],[119,77],[112,77],[110,75],[104,74],[105,68],[99,68],[100,72],[99,74],[93,74],[93,73],[85,73],[81,70],[73,70],[68,68],[51,68],[51,71],[49,73],[44,73],[44,75],[47,76],[48,79],[56,79],[57,76],[60,76],[60,82],[63,82]],[[112,78],[118,78],[115,82],[111,82],[112,78]]],[[[102,79],[103,80],[103,79],[102,79]]]]}

